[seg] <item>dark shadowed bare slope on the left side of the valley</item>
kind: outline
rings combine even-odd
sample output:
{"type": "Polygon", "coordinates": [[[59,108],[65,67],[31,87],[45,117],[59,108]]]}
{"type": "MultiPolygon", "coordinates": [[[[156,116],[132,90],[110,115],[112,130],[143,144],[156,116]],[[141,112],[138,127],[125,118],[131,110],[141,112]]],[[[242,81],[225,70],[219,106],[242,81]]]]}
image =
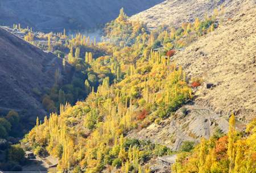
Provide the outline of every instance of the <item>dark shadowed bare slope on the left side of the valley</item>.
{"type": "MultiPolygon", "coordinates": [[[[14,109],[21,115],[45,115],[36,92],[43,92],[55,82],[56,69],[63,70],[62,60],[0,28],[0,112],[14,109]],[[36,92],[35,92],[36,91],[36,92]]],[[[28,123],[28,117],[22,117],[28,123]]]]}

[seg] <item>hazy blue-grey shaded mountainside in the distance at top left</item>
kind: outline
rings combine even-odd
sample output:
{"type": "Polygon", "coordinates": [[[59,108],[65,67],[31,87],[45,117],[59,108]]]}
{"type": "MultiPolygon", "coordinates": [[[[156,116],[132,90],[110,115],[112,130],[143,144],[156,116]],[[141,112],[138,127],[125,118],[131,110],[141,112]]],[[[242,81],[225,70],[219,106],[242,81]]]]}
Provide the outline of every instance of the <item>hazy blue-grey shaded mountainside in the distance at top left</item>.
{"type": "Polygon", "coordinates": [[[124,7],[128,15],[146,10],[163,0],[141,1],[1,1],[0,24],[21,23],[41,31],[62,31],[63,28],[89,29],[114,19],[124,7]]]}

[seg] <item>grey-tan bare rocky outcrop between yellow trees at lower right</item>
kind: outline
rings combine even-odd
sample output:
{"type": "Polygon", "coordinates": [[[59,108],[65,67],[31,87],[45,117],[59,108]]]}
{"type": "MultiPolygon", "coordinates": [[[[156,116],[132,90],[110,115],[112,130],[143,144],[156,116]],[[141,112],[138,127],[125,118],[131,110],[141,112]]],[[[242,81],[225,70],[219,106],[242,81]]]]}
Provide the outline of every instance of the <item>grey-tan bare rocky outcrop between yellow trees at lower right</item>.
{"type": "Polygon", "coordinates": [[[160,124],[153,123],[139,132],[131,132],[128,137],[150,140],[176,151],[183,141],[199,142],[200,137],[209,139],[217,128],[226,133],[228,125],[227,119],[206,107],[192,103],[180,108],[174,116],[163,120],[160,124]]]}

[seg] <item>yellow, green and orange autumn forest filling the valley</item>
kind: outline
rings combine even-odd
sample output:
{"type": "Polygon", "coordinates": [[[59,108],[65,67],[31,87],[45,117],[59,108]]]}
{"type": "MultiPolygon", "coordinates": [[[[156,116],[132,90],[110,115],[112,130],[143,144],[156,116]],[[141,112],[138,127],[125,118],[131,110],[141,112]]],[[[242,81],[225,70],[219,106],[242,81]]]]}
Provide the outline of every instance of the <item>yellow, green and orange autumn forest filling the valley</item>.
{"type": "MultiPolygon", "coordinates": [[[[47,44],[42,44],[31,28],[14,24],[26,32],[24,40],[55,53],[63,66],[71,65],[77,73],[69,83],[62,83],[56,70],[52,88],[38,93],[51,115],[36,120],[22,145],[2,146],[6,143],[1,142],[11,164],[0,167],[20,170],[23,150],[32,150],[40,157],[57,158],[59,171],[149,173],[151,158],[177,154],[172,166],[176,173],[256,172],[255,120],[245,132],[237,132],[232,115],[228,134],[217,131],[197,145],[184,142],[179,151],[126,137],[131,130],[174,116],[193,100],[193,88],[201,85],[201,79],[188,78],[172,57],[221,27],[223,13],[224,9],[214,10],[204,20],[149,31],[143,23],[130,21],[121,9],[118,18],[106,24],[99,43],[81,33],[68,35],[64,29],[43,35],[47,44]]],[[[17,124],[15,112],[1,118],[0,137],[7,138],[17,124]]]]}

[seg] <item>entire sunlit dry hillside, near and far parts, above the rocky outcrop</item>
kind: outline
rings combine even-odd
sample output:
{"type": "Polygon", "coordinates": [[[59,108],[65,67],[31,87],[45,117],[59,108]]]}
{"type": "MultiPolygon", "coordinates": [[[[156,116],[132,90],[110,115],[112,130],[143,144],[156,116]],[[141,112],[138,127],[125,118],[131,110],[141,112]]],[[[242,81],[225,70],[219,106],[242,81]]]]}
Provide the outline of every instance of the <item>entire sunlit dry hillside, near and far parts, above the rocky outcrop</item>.
{"type": "Polygon", "coordinates": [[[223,5],[224,19],[228,19],[224,26],[177,53],[174,61],[183,66],[190,77],[203,79],[204,85],[217,85],[210,90],[205,86],[199,88],[196,100],[201,105],[221,115],[234,111],[240,120],[247,121],[256,112],[255,3],[251,0],[165,1],[130,20],[139,19],[149,28],[162,24],[177,26],[197,17],[204,18],[206,13],[223,5]]]}

